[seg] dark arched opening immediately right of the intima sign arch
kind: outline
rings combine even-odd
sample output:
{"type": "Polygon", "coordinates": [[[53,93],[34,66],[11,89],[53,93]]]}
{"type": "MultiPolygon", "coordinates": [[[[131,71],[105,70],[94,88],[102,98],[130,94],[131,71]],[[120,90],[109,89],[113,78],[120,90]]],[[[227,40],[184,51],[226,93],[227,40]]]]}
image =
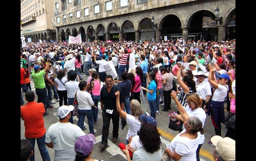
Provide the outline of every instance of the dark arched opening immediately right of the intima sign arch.
{"type": "Polygon", "coordinates": [[[161,30],[160,39],[164,40],[164,36],[167,36],[167,40],[182,38],[181,20],[176,15],[167,15],[159,23],[159,29],[161,30]]]}

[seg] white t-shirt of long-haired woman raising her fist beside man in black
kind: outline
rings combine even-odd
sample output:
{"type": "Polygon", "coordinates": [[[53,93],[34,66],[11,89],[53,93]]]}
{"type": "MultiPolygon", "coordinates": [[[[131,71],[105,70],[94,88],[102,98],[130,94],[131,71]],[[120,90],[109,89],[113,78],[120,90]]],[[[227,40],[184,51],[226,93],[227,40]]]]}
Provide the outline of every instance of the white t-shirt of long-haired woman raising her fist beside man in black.
{"type": "Polygon", "coordinates": [[[137,133],[137,131],[140,130],[141,122],[139,121],[138,118],[136,119],[134,116],[129,114],[126,115],[126,121],[127,123],[129,123],[129,130],[126,139],[129,140],[129,137],[132,134],[137,133]]]}

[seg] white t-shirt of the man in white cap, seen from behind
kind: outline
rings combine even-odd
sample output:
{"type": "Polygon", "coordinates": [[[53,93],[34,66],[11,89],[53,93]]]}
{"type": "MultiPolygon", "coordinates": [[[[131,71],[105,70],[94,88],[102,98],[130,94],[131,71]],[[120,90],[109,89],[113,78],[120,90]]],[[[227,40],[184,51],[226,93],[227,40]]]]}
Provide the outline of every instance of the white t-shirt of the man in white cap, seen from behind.
{"type": "Polygon", "coordinates": [[[53,142],[54,160],[73,161],[76,155],[74,149],[75,141],[82,135],[85,135],[85,133],[77,125],[70,122],[57,122],[47,130],[45,142],[53,142]]]}

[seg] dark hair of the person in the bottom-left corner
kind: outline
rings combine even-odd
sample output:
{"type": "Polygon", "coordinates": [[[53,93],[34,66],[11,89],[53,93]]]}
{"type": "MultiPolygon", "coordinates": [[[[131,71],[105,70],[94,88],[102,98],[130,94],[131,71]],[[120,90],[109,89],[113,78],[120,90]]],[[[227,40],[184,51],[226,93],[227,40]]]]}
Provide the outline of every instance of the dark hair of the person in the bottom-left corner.
{"type": "Polygon", "coordinates": [[[32,151],[32,145],[27,139],[20,140],[20,160],[27,161],[30,158],[30,154],[32,151]]]}

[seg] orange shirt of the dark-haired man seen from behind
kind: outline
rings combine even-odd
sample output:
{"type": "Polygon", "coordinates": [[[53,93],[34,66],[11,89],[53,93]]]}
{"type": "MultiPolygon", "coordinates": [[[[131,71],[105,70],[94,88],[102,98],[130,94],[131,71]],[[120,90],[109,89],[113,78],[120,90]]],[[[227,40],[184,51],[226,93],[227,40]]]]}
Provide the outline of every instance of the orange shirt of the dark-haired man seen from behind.
{"type": "Polygon", "coordinates": [[[24,120],[25,137],[42,137],[46,132],[43,117],[45,113],[44,104],[37,103],[36,101],[28,102],[25,106],[21,107],[20,111],[20,116],[24,120]]]}

